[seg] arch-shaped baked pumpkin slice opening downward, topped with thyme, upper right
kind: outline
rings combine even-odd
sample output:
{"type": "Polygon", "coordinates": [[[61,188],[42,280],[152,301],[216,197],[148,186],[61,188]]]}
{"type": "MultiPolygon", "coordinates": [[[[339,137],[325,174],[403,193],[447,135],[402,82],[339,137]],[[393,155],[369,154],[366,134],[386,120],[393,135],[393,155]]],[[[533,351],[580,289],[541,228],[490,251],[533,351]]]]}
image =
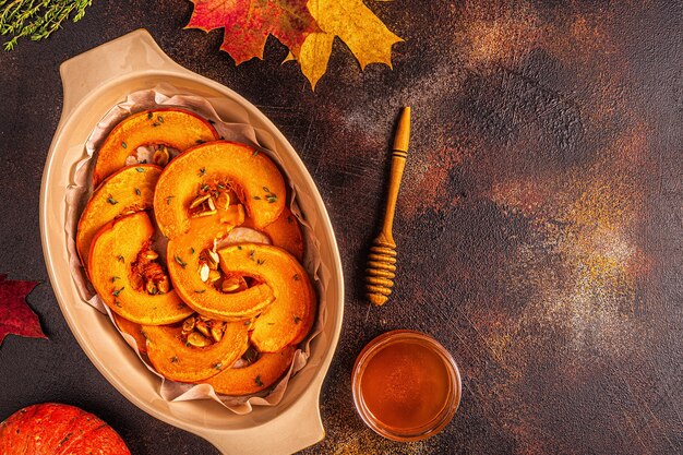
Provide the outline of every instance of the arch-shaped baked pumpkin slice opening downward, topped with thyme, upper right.
{"type": "Polygon", "coordinates": [[[159,177],[154,195],[159,229],[169,239],[187,232],[197,197],[224,191],[239,196],[256,229],[277,219],[287,195],[283,175],[265,154],[228,141],[197,145],[170,161],[159,177]]]}

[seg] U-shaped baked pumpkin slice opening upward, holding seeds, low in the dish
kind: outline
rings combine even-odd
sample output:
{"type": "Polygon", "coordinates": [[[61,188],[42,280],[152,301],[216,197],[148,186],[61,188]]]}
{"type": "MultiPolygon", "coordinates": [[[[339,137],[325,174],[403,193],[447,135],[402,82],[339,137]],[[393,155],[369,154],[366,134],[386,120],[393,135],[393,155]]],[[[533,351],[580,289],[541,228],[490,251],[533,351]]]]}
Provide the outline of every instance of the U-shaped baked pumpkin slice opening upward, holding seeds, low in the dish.
{"type": "Polygon", "coordinates": [[[205,347],[192,346],[182,326],[143,326],[147,356],[156,371],[178,382],[200,382],[232,366],[249,347],[242,322],[225,323],[223,337],[205,347]]]}

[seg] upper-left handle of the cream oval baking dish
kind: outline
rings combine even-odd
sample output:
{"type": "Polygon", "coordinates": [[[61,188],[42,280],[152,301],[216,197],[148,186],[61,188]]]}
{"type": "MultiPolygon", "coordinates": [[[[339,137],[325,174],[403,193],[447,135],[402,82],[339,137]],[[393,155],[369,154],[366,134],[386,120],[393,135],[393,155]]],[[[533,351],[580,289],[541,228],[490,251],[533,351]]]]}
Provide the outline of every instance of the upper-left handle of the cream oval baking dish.
{"type": "Polygon", "coordinates": [[[98,86],[116,77],[148,70],[189,72],[164,53],[144,28],[67,60],[59,67],[64,91],[62,119],[98,86]]]}

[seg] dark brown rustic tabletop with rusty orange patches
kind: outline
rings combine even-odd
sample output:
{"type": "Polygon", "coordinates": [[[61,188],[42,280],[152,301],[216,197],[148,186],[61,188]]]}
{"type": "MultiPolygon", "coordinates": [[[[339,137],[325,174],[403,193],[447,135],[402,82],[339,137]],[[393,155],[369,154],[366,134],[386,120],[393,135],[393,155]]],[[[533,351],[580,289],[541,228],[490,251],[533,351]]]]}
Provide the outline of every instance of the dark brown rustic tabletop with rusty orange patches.
{"type": "MultiPolygon", "coordinates": [[[[323,388],[326,439],[303,453],[683,452],[683,5],[680,1],[367,3],[405,43],[361,72],[340,43],[312,93],[286,49],[236,68],[221,34],[183,31],[184,0],[101,2],[43,43],[0,52],[0,273],[49,340],[0,348],[0,419],[81,406],[134,454],[213,454],[128,403],[91,364],[52,295],[38,232],[59,64],[139,27],[180,64],[254,103],[325,200],[346,314],[323,388]],[[414,108],[396,290],[361,298],[399,106],[414,108]],[[354,410],[349,374],[374,336],[414,328],[459,363],[463,403],[438,436],[398,444],[354,410]]],[[[287,435],[283,435],[286,438],[287,435]]]]}

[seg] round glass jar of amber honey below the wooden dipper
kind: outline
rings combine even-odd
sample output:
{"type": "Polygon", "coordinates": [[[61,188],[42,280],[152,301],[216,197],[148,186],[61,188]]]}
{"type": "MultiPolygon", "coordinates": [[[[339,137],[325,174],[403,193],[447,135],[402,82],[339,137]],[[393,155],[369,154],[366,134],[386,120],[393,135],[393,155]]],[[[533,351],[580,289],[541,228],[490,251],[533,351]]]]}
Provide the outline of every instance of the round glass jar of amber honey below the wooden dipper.
{"type": "Polygon", "coordinates": [[[380,335],[352,372],[356,409],[376,433],[394,441],[436,434],[460,403],[460,373],[448,351],[415,331],[380,335]]]}

